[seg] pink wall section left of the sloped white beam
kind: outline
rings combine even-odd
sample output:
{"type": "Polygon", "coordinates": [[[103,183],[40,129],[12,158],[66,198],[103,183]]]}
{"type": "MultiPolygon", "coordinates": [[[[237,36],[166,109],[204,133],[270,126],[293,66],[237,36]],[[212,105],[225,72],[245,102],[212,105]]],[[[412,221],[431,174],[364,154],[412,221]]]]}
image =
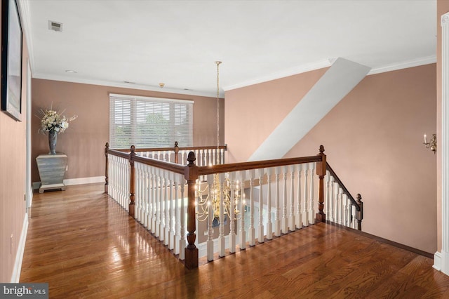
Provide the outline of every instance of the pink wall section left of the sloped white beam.
{"type": "Polygon", "coordinates": [[[247,161],[327,69],[226,92],[227,161],[247,161]]]}

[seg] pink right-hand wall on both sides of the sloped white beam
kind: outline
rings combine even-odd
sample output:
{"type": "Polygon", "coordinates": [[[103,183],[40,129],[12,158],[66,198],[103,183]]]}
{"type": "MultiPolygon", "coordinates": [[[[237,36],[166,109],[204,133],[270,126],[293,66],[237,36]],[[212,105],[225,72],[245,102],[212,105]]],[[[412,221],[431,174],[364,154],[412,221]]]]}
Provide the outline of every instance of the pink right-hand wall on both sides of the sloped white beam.
{"type": "MultiPolygon", "coordinates": [[[[229,156],[249,157],[300,100],[303,87],[313,85],[322,72],[227,92],[229,156]],[[305,78],[304,86],[296,81],[305,78]],[[270,107],[269,113],[263,107],[270,107]],[[234,113],[251,114],[250,130],[242,130],[248,119],[236,121],[234,113]],[[228,121],[230,115],[234,121],[228,121]],[[257,138],[250,137],[257,128],[257,138]],[[244,154],[237,153],[240,144],[247,149],[244,154]]],[[[435,132],[436,65],[413,67],[363,79],[286,157],[316,154],[324,145],[348,190],[362,194],[364,231],[434,253],[436,156],[422,145],[422,135],[435,132]]]]}

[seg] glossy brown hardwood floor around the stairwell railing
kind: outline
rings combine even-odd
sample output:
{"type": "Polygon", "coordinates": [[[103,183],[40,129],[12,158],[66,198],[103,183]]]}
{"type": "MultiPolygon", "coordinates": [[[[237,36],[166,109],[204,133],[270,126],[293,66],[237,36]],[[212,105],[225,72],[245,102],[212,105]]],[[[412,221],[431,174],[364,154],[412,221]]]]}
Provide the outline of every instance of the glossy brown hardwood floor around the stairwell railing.
{"type": "Polygon", "coordinates": [[[432,264],[321,223],[186,270],[93,184],[34,194],[20,281],[50,298],[449,298],[432,264]]]}

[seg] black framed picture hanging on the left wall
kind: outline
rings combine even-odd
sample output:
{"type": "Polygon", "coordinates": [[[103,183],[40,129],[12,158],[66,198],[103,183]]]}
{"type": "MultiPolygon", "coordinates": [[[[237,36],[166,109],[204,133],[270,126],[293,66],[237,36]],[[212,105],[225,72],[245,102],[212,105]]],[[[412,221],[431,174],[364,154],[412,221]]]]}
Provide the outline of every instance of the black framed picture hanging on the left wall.
{"type": "Polygon", "coordinates": [[[1,110],[22,121],[22,25],[15,0],[1,1],[1,110]]]}

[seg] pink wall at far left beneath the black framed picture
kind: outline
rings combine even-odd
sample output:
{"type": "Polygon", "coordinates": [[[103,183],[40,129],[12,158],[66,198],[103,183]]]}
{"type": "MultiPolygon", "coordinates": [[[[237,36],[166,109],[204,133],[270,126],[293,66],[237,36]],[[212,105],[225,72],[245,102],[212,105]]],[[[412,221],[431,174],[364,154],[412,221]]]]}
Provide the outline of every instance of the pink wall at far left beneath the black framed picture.
{"type": "Polygon", "coordinates": [[[25,218],[27,62],[23,39],[22,121],[0,112],[0,282],[11,282],[25,218]]]}

